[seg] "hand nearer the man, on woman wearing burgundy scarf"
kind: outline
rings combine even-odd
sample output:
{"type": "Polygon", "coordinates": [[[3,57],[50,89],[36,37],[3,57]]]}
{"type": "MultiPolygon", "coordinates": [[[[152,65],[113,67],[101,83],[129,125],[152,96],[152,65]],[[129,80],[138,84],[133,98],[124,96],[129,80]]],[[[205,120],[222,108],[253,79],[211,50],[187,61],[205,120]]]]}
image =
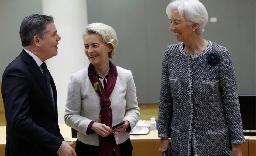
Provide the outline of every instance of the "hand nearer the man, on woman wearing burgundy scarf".
{"type": "Polygon", "coordinates": [[[92,130],[94,130],[96,134],[101,135],[102,137],[107,137],[113,132],[112,129],[107,125],[97,122],[92,124],[92,130]]]}

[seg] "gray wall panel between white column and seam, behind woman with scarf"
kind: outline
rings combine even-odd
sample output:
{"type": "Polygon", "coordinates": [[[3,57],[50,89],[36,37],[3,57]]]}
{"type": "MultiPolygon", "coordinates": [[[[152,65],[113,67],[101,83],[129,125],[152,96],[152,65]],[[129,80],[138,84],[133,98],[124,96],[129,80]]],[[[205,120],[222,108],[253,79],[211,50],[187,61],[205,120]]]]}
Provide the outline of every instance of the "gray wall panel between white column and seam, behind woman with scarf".
{"type": "MultiPolygon", "coordinates": [[[[144,2],[138,0],[87,1],[88,24],[103,22],[117,32],[112,62],[133,73],[139,102],[148,97],[144,2]],[[97,9],[94,9],[97,7],[97,9]]],[[[145,102],[145,100],[144,100],[145,102]]]]}

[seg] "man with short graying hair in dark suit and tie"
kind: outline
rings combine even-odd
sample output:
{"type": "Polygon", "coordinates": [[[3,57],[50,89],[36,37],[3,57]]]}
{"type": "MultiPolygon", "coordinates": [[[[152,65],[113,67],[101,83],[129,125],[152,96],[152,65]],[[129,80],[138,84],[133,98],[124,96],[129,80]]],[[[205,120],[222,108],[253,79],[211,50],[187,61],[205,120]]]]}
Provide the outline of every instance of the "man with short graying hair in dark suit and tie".
{"type": "Polygon", "coordinates": [[[27,16],[19,34],[24,49],[2,77],[5,156],[76,156],[60,134],[56,86],[44,63],[61,40],[53,17],[27,16]]]}

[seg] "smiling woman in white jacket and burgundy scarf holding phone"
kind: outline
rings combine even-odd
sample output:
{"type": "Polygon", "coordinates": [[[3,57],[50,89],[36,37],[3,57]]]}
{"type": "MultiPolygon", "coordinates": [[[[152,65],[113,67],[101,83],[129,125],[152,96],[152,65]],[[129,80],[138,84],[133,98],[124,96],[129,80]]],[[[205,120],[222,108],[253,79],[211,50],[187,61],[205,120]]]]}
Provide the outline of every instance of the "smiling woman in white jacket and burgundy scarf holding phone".
{"type": "Polygon", "coordinates": [[[109,61],[117,47],[115,30],[93,23],[83,33],[90,65],[72,74],[65,123],[76,129],[77,156],[132,156],[130,130],[139,118],[136,87],[130,70],[109,61]],[[112,126],[124,121],[117,128],[112,126]]]}

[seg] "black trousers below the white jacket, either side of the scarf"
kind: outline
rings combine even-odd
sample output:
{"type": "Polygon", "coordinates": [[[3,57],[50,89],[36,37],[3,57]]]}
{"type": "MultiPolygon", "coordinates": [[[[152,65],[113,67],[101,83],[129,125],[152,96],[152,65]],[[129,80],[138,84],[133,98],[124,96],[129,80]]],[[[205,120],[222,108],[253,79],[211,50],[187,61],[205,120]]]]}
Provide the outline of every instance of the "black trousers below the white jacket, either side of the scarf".
{"type": "MultiPolygon", "coordinates": [[[[130,138],[117,146],[120,156],[132,156],[133,146],[130,138]]],[[[99,146],[88,145],[79,140],[76,140],[75,151],[77,156],[99,156],[99,146]]]]}

